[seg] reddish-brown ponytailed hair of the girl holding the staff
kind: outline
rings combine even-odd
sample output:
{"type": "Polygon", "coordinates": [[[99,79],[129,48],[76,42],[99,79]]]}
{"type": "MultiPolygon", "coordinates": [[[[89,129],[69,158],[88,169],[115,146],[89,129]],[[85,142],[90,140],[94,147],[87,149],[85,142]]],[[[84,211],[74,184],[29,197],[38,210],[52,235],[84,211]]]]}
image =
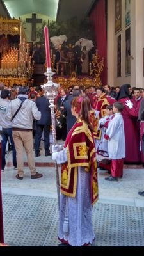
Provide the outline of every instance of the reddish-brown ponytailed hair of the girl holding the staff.
{"type": "Polygon", "coordinates": [[[92,124],[90,122],[90,99],[88,99],[88,97],[74,97],[72,100],[72,107],[76,107],[76,113],[79,115],[79,118],[88,125],[90,131],[93,131],[92,124]]]}

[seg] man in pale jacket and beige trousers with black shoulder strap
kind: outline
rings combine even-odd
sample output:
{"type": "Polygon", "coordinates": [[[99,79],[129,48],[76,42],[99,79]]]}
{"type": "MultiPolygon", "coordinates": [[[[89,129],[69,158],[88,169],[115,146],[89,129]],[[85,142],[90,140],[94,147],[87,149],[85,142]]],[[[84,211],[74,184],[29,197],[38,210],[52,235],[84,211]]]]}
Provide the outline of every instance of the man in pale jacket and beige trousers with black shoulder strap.
{"type": "Polygon", "coordinates": [[[33,119],[39,120],[41,113],[35,102],[28,99],[28,86],[20,86],[17,99],[11,100],[6,113],[8,120],[12,120],[12,134],[17,152],[17,175],[19,180],[24,179],[23,150],[26,151],[31,179],[39,179],[43,175],[36,172],[33,157],[33,119]]]}

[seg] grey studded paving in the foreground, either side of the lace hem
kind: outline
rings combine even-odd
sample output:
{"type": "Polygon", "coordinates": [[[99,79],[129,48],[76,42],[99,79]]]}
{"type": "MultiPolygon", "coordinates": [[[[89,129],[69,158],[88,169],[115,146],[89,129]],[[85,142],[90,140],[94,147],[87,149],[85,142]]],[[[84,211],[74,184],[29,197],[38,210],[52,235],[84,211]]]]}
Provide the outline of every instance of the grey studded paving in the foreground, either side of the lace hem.
{"type": "MultiPolygon", "coordinates": [[[[58,246],[55,198],[3,194],[4,237],[10,246],[58,246]]],[[[144,246],[144,208],[102,204],[93,207],[92,246],[144,246]]]]}

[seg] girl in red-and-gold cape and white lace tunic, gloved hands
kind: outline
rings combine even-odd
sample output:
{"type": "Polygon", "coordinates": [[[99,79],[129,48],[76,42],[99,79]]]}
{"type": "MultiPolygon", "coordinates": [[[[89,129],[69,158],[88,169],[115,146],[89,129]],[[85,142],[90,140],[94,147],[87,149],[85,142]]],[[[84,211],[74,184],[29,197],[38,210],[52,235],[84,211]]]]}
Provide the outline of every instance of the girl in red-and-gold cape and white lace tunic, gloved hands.
{"type": "Polygon", "coordinates": [[[52,147],[52,159],[62,164],[58,239],[71,246],[86,246],[95,239],[92,205],[98,198],[97,163],[89,111],[90,100],[75,97],[72,115],[77,122],[63,150],[60,145],[52,147]]]}

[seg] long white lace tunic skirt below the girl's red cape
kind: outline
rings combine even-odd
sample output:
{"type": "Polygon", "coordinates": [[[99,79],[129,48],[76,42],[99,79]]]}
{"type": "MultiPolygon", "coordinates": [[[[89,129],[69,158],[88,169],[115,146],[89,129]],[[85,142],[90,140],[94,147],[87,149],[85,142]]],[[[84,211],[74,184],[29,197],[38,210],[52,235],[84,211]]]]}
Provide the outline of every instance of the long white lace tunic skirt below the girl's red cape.
{"type": "Polygon", "coordinates": [[[71,246],[92,243],[95,234],[92,228],[92,203],[90,200],[90,173],[81,167],[77,175],[76,197],[60,196],[59,239],[65,239],[71,246]],[[68,211],[67,211],[68,210],[68,211]],[[65,213],[68,212],[68,233],[63,232],[65,213]]]}

